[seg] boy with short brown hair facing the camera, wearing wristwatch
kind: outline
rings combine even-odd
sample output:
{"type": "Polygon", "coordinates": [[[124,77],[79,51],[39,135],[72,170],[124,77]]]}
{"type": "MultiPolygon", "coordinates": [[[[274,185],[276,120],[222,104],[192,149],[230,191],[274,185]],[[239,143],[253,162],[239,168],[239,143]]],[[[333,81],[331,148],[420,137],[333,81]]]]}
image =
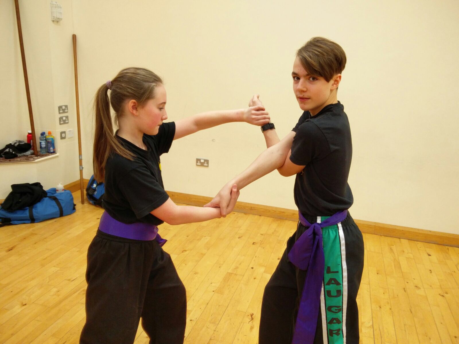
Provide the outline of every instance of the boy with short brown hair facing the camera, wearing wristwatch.
{"type": "MultiPolygon", "coordinates": [[[[293,91],[304,111],[282,140],[274,124],[262,127],[268,147],[227,183],[207,206],[225,216],[231,186],[242,189],[277,169],[296,174],[294,199],[300,221],[267,283],[259,344],[357,344],[357,293],[364,266],[362,233],[347,212],[351,132],[337,100],[346,54],[329,39],[314,37],[297,51],[293,91]]],[[[250,105],[261,102],[254,96],[250,105]]]]}

